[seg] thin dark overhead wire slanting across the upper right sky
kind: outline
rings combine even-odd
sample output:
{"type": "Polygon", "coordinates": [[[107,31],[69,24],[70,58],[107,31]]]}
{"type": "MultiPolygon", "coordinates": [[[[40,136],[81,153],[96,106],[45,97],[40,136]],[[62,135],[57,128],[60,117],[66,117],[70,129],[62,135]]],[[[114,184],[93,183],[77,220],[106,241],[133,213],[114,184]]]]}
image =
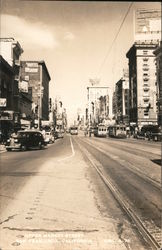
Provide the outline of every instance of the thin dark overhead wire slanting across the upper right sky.
{"type": "Polygon", "coordinates": [[[126,19],[128,13],[129,13],[129,11],[130,11],[132,5],[133,5],[133,2],[130,3],[130,5],[129,5],[129,7],[128,7],[128,10],[127,10],[127,12],[126,12],[126,14],[125,14],[125,16],[124,16],[124,18],[123,18],[123,20],[122,20],[120,26],[119,26],[119,29],[118,29],[118,31],[117,31],[117,34],[115,35],[115,37],[114,37],[114,39],[113,39],[113,41],[112,41],[112,43],[111,43],[111,46],[110,46],[110,48],[108,49],[108,51],[107,51],[107,53],[106,53],[106,55],[105,55],[105,57],[104,57],[104,59],[103,59],[103,62],[101,63],[101,66],[100,66],[99,71],[98,71],[98,74],[97,74],[98,76],[99,76],[100,73],[101,73],[101,70],[102,70],[102,68],[103,68],[103,66],[104,66],[104,64],[105,64],[105,62],[106,62],[106,60],[107,60],[107,58],[108,58],[108,56],[109,56],[111,50],[112,50],[112,47],[113,47],[113,45],[114,45],[114,43],[115,43],[115,41],[116,41],[116,39],[117,39],[117,37],[118,37],[118,35],[119,35],[119,33],[120,33],[120,30],[121,30],[121,28],[122,28],[122,26],[123,26],[123,24],[124,24],[124,22],[125,22],[125,19],[126,19]]]}

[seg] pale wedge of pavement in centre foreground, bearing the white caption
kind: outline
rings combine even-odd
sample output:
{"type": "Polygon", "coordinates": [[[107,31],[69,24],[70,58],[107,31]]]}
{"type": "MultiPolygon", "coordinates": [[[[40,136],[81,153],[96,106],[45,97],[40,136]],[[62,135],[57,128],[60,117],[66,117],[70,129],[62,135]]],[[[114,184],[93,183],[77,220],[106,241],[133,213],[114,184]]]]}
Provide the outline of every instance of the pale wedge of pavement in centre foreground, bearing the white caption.
{"type": "Polygon", "coordinates": [[[2,249],[126,250],[115,220],[96,206],[87,168],[75,151],[33,172],[1,216],[2,249]]]}

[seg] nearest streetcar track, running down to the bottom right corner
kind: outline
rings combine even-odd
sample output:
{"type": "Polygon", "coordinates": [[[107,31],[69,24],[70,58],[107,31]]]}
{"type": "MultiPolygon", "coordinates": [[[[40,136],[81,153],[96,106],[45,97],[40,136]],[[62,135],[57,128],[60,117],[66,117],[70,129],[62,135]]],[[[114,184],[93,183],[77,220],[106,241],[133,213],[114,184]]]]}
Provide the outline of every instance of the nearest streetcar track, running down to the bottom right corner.
{"type": "MultiPolygon", "coordinates": [[[[130,205],[126,199],[124,199],[123,195],[118,191],[116,186],[114,185],[112,179],[108,176],[105,177],[103,171],[101,170],[101,167],[99,165],[102,165],[100,162],[98,162],[96,159],[94,161],[93,156],[91,153],[88,152],[85,147],[76,141],[77,145],[79,146],[80,150],[83,152],[83,154],[87,157],[91,165],[95,168],[97,173],[99,174],[100,178],[104,182],[104,184],[109,188],[109,190],[112,192],[114,198],[117,200],[119,205],[122,207],[122,209],[126,212],[127,216],[135,223],[136,228],[138,229],[138,232],[142,235],[142,237],[145,239],[146,242],[149,243],[149,245],[153,249],[161,249],[161,229],[156,228],[154,225],[147,225],[146,221],[142,221],[140,217],[135,213],[133,207],[130,205]],[[93,159],[93,160],[92,160],[93,159]],[[97,164],[97,163],[99,164],[97,164]]],[[[92,146],[92,145],[91,145],[92,146]]]]}

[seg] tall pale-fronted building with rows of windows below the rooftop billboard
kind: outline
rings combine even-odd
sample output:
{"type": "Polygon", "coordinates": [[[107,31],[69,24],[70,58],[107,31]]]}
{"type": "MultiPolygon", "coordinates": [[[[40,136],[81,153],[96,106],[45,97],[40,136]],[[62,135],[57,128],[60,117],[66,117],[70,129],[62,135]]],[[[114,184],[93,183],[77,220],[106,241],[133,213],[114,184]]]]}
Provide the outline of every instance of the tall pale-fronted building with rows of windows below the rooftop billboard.
{"type": "Polygon", "coordinates": [[[129,59],[129,119],[130,125],[157,124],[156,65],[157,43],[138,41],[126,56],[129,59]]]}

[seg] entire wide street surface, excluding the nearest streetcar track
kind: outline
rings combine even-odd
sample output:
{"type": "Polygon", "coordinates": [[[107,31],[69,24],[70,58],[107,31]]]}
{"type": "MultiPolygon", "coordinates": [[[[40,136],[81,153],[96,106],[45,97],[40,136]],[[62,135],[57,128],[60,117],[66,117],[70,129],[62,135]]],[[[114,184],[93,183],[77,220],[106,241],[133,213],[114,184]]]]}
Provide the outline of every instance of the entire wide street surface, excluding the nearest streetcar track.
{"type": "MultiPolygon", "coordinates": [[[[160,143],[67,135],[44,150],[0,154],[0,230],[7,235],[3,242],[7,247],[2,250],[53,249],[29,243],[25,248],[14,240],[24,237],[20,231],[84,232],[97,239],[92,248],[96,250],[149,249],[79,145],[100,162],[105,176],[138,215],[160,228],[160,143]],[[109,238],[103,241],[103,235],[109,238]]],[[[56,249],[76,248],[61,245],[56,249]]]]}

